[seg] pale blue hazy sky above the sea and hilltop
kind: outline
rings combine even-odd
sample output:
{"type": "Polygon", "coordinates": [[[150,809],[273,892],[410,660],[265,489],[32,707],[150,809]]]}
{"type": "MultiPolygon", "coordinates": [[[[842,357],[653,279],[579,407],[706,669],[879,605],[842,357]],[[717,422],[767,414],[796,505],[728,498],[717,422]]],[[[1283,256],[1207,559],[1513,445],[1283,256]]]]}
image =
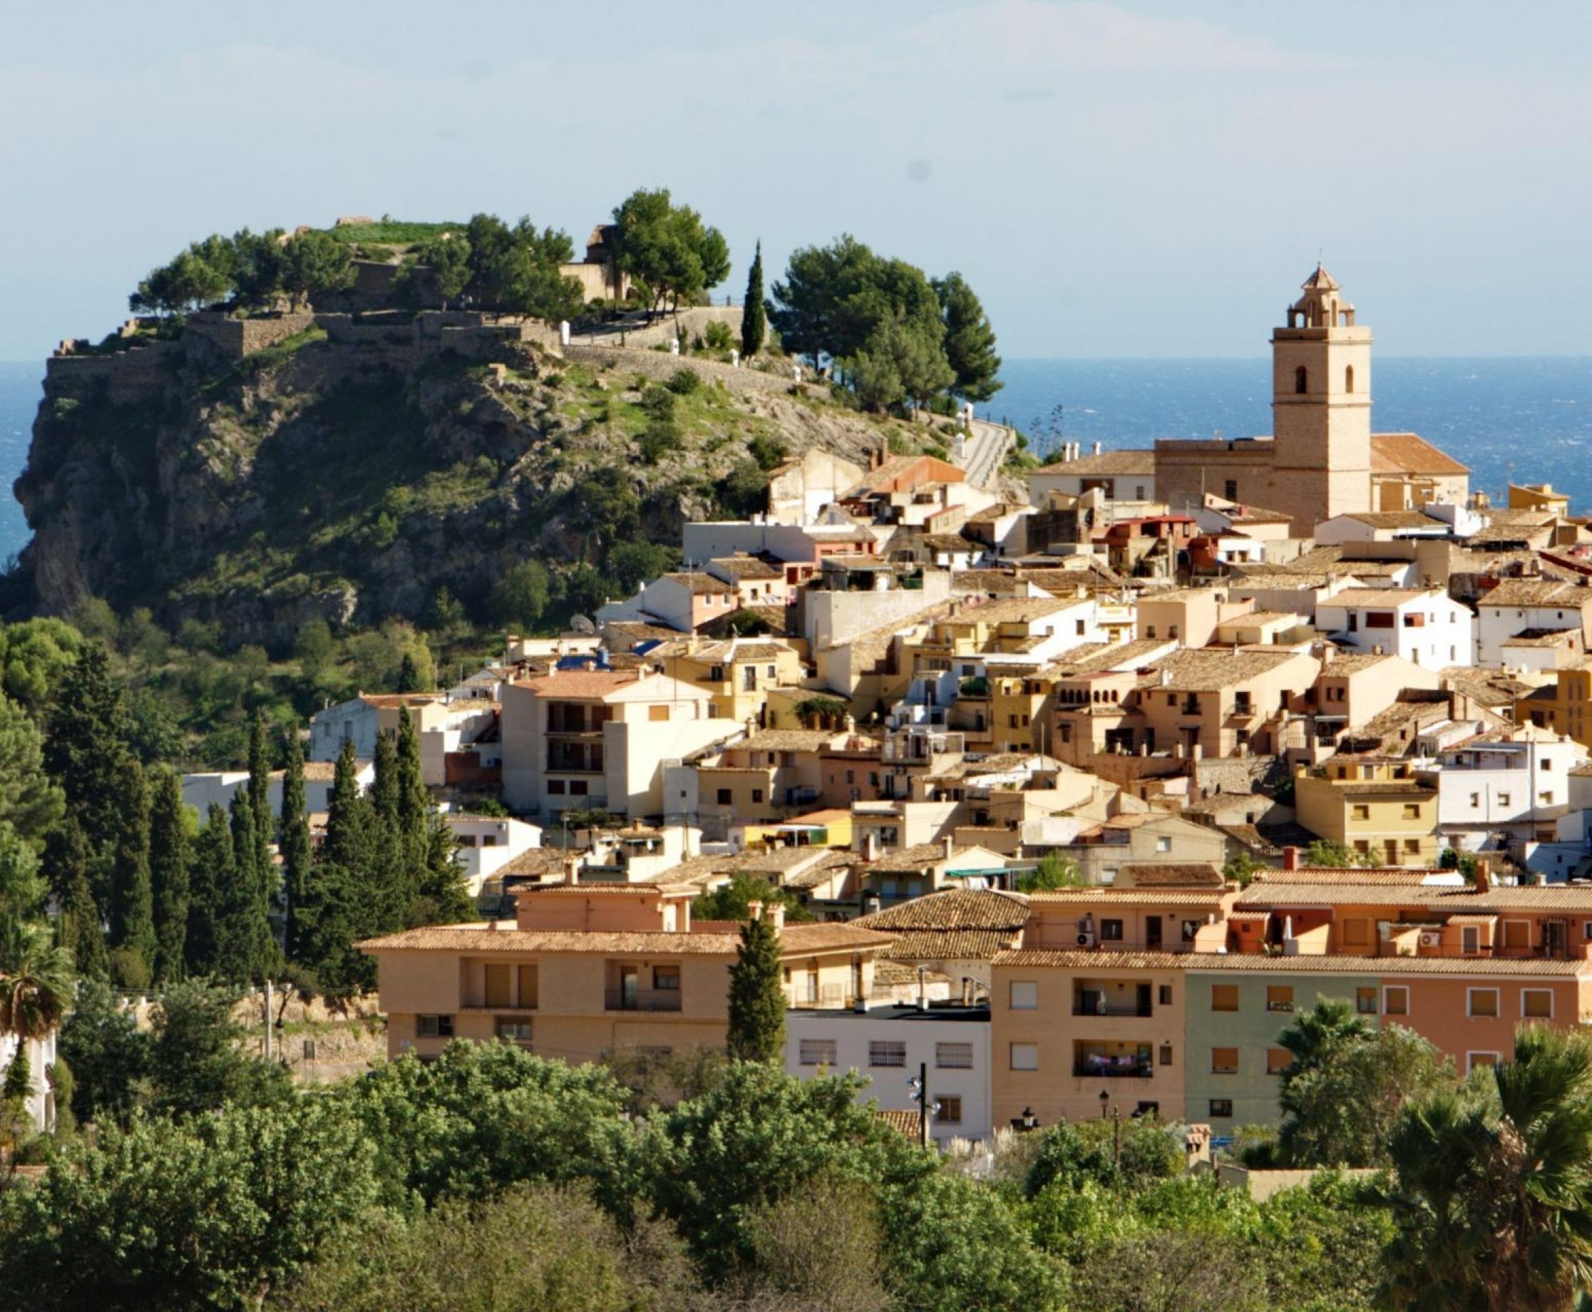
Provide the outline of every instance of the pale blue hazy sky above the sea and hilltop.
{"type": "MultiPolygon", "coordinates": [[[[1320,258],[1388,355],[1589,355],[1592,5],[0,8],[0,359],[189,240],[665,186],[771,278],[960,270],[1008,358],[1258,356],[1320,258]]],[[[721,291],[721,294],[723,294],[721,291]]]]}

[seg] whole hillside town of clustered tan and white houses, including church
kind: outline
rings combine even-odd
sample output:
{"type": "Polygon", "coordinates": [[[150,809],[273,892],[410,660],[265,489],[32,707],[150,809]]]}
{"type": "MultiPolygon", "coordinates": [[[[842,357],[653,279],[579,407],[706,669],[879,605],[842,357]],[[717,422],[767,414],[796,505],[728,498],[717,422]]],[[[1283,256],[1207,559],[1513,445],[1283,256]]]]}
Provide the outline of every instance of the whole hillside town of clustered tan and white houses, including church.
{"type": "Polygon", "coordinates": [[[1372,431],[1325,269],[1270,345],[1270,436],[1063,442],[1025,490],[971,407],[949,460],[810,450],[572,631],[315,714],[312,832],[403,719],[478,910],[358,945],[388,1054],[721,1048],[740,924],[693,905],[748,886],[786,1070],[942,1147],[1275,1124],[1321,997],[1460,1072],[1587,1019],[1592,531],[1372,431]]]}

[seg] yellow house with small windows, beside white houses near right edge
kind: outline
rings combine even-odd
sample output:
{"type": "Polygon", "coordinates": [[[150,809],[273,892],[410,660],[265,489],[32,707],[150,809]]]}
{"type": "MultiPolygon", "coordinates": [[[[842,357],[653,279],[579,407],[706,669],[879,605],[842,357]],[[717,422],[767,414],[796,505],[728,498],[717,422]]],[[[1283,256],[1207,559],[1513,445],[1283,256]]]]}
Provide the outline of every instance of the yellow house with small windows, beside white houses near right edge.
{"type": "Polygon", "coordinates": [[[1409,762],[1345,757],[1294,776],[1299,824],[1377,865],[1438,864],[1438,790],[1409,762]]]}

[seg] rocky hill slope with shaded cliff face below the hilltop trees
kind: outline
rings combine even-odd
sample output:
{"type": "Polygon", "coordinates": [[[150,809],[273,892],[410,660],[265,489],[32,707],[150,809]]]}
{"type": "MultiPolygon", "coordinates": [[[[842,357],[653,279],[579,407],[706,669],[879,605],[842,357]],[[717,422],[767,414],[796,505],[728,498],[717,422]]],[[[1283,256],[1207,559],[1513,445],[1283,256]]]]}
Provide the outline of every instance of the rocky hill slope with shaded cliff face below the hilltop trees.
{"type": "Polygon", "coordinates": [[[783,453],[925,436],[788,366],[565,353],[481,313],[129,324],[49,361],[22,569],[45,611],[92,595],[275,646],[314,617],[417,617],[443,587],[479,614],[514,561],[602,569],[618,542],[759,509],[783,453]]]}

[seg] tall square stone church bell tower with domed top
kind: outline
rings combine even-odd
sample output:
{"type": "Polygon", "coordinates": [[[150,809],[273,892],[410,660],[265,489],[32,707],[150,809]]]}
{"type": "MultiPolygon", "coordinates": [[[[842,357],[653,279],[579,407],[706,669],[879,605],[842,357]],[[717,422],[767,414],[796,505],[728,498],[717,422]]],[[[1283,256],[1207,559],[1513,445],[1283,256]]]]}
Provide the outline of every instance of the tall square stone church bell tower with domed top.
{"type": "Polygon", "coordinates": [[[1272,332],[1272,509],[1293,536],[1371,506],[1371,329],[1320,264],[1272,332]]]}

